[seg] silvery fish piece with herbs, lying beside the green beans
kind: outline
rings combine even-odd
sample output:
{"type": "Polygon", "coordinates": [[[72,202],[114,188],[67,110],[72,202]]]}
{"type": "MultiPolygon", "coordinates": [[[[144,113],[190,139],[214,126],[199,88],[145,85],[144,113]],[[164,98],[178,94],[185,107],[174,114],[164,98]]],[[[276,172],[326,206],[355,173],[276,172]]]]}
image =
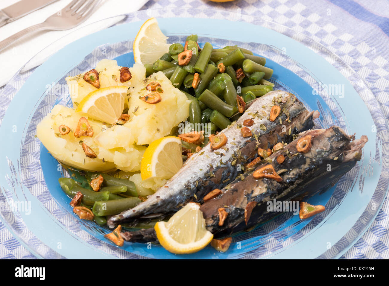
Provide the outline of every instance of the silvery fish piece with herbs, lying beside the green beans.
{"type": "Polygon", "coordinates": [[[207,193],[215,188],[223,188],[242,174],[243,168],[239,170],[238,164],[243,165],[256,158],[258,147],[267,149],[278,142],[291,142],[294,134],[313,128],[313,120],[317,117],[317,111],[309,112],[295,95],[286,91],[270,91],[257,98],[235,124],[221,131],[228,139],[225,146],[212,152],[207,144],[201,151],[193,154],[179,172],[145,202],[110,217],[107,225],[114,228],[119,223],[135,224],[138,220],[150,219],[147,216],[156,218],[176,212],[190,201],[203,202],[207,193]],[[279,104],[283,112],[274,122],[270,122],[267,117],[273,98],[277,100],[277,97],[284,102],[279,104]],[[256,112],[260,116],[254,115],[256,112]],[[252,137],[243,138],[237,128],[238,125],[243,125],[245,119],[254,120],[254,124],[249,127],[252,137]],[[287,119],[291,122],[287,122],[287,119]],[[261,125],[266,130],[261,130],[261,125]],[[259,144],[256,138],[259,139],[259,144]],[[233,162],[234,157],[237,158],[236,162],[233,162]]]}

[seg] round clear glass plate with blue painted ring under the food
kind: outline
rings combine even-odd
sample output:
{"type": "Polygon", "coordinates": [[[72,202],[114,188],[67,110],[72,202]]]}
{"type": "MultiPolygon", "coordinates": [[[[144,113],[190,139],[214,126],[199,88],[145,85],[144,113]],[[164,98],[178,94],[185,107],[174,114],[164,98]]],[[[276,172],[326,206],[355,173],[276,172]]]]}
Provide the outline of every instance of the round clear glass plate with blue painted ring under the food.
{"type": "MultiPolygon", "coordinates": [[[[93,24],[92,24],[93,25],[93,24]]],[[[42,51],[44,53],[44,51],[42,51]]],[[[156,9],[126,15],[123,24],[72,42],[33,72],[16,74],[1,95],[1,219],[40,258],[339,258],[366,231],[388,189],[388,126],[377,100],[352,68],[306,35],[249,15],[214,9],[156,9]],[[267,58],[276,89],[289,90],[321,112],[319,125],[367,135],[362,160],[329,191],[309,200],[326,211],[300,221],[285,213],[234,237],[226,253],[206,247],[177,256],[162,247],[103,238],[109,230],[77,219],[58,186],[58,162],[35,138],[54,104],[71,106],[65,77],[103,58],[133,63],[132,43],[142,23],[158,18],[168,42],[196,33],[215,47],[238,44],[267,58]],[[196,25],[188,25],[194,23],[196,25]]],[[[318,182],[319,184],[320,182],[318,182]]]]}

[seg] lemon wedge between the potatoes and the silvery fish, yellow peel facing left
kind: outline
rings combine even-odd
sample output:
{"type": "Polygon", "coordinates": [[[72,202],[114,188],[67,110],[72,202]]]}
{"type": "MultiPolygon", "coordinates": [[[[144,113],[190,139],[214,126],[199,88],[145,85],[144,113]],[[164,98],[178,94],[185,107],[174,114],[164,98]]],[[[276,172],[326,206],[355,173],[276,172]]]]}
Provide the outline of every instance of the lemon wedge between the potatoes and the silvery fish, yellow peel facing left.
{"type": "Polygon", "coordinates": [[[170,179],[182,167],[181,139],[162,137],[147,147],[140,163],[140,175],[146,179],[170,179]]]}

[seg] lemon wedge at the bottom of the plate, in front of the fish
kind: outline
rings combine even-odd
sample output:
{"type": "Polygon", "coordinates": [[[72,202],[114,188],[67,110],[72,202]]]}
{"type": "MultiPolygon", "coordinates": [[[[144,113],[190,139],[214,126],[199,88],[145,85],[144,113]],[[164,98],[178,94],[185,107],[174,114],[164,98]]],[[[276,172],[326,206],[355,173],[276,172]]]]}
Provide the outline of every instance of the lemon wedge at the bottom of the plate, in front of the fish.
{"type": "Polygon", "coordinates": [[[200,251],[214,235],[205,228],[200,206],[188,203],[168,222],[159,221],[154,226],[159,243],[169,252],[187,254],[200,251]]]}

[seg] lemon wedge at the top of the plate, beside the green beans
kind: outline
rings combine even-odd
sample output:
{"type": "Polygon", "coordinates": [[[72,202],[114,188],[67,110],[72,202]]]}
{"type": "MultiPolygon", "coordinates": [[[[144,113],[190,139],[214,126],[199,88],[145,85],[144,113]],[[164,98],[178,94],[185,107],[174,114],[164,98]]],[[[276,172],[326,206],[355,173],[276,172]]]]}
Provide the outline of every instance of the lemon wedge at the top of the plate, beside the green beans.
{"type": "Polygon", "coordinates": [[[150,18],[140,27],[133,44],[135,63],[154,63],[163,54],[167,53],[170,45],[166,44],[166,37],[158,26],[156,18],[150,18]]]}

